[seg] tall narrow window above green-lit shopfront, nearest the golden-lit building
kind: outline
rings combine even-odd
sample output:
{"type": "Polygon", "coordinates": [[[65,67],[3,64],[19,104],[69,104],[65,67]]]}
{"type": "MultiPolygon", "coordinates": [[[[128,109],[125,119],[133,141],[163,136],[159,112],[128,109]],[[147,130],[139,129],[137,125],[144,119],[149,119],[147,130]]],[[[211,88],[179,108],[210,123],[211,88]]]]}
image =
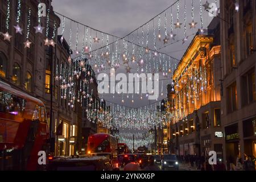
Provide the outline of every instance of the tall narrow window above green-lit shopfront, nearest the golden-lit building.
{"type": "Polygon", "coordinates": [[[237,84],[234,82],[227,88],[228,91],[228,113],[232,113],[233,111],[237,110],[237,84]]]}

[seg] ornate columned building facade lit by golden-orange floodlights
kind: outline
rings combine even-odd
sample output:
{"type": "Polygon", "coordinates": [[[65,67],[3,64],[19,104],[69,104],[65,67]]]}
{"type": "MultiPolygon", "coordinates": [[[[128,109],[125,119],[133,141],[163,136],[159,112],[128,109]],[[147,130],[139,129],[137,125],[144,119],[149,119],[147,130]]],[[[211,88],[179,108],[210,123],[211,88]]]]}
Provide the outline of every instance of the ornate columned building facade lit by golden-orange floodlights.
{"type": "Polygon", "coordinates": [[[208,29],[210,33],[192,40],[168,86],[171,152],[180,156],[208,156],[212,150],[223,156],[218,20],[208,29]]]}

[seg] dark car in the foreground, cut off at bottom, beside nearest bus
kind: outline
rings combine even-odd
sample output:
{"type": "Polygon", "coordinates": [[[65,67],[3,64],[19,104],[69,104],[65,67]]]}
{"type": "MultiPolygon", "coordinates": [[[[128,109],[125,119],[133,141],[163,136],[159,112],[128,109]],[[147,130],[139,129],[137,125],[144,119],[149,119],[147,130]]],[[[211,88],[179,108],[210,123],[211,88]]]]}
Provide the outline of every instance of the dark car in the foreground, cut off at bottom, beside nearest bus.
{"type": "Polygon", "coordinates": [[[102,156],[76,156],[53,159],[48,171],[113,171],[113,168],[102,156]]]}

